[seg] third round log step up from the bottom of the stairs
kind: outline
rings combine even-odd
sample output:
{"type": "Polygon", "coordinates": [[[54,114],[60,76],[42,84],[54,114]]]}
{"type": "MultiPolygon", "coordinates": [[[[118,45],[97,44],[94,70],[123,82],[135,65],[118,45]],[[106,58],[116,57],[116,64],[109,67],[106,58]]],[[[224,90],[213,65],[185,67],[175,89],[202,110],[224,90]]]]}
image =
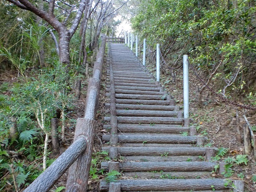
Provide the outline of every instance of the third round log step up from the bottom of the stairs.
{"type": "MultiPolygon", "coordinates": [[[[218,150],[218,148],[212,148],[218,150]]],[[[203,156],[205,147],[118,147],[121,156],[203,156]]],[[[108,151],[108,147],[102,147],[102,151],[108,151]]]]}

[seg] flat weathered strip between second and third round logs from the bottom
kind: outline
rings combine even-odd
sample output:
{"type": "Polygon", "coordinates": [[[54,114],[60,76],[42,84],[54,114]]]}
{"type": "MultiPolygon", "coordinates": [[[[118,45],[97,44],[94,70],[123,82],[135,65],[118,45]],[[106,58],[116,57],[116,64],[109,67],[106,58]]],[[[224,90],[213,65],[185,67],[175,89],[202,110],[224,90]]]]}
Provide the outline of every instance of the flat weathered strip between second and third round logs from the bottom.
{"type": "Polygon", "coordinates": [[[200,161],[198,156],[124,156],[126,161],[135,161],[135,162],[157,162],[157,161],[172,161],[172,162],[188,162],[188,161],[200,161]]]}

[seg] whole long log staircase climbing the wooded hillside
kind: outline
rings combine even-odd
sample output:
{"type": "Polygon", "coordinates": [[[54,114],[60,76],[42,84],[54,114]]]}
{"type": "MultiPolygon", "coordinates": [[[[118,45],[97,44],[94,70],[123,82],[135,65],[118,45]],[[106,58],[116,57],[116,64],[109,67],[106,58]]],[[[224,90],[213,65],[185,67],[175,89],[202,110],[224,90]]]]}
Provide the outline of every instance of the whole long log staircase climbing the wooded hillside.
{"type": "Polygon", "coordinates": [[[109,44],[108,63],[110,116],[104,118],[104,129],[110,134],[102,136],[109,143],[102,150],[111,161],[101,168],[122,176],[118,182],[100,182],[101,191],[224,192],[232,183],[236,189],[231,190],[244,190],[242,181],[210,177],[224,167],[210,162],[217,148],[203,147],[207,138],[195,136],[196,128],[183,118],[180,106],[128,47],[109,44]]]}

